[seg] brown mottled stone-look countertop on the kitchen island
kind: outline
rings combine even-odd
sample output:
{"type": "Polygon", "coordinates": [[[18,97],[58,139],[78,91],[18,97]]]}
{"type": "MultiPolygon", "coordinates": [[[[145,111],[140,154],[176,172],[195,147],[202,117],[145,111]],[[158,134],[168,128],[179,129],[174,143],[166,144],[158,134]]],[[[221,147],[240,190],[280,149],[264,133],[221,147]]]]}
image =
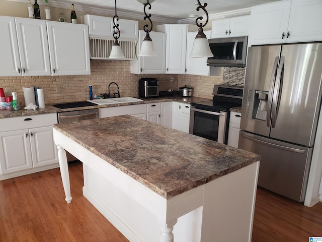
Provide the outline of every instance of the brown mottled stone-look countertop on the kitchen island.
{"type": "Polygon", "coordinates": [[[53,127],[166,199],[260,160],[130,115],[53,127]]]}

